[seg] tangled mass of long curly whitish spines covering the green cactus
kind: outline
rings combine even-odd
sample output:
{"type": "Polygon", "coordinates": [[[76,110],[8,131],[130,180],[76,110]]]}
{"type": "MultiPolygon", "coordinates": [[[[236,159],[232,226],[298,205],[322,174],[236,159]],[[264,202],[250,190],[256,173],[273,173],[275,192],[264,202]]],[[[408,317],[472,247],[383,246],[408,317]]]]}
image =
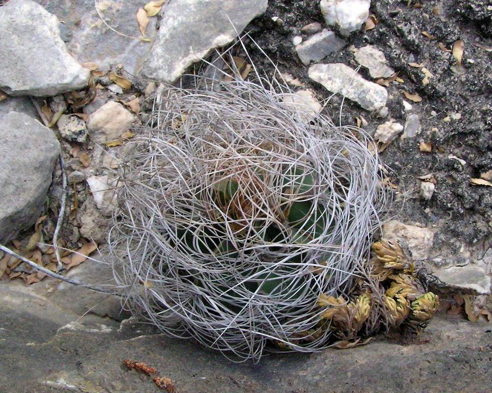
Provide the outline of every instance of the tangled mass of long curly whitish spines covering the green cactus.
{"type": "MultiPolygon", "coordinates": [[[[309,338],[321,293],[350,294],[354,277],[371,286],[366,261],[387,198],[370,137],[323,114],[305,122],[283,103],[286,83],[257,76],[214,90],[169,86],[128,143],[109,236],[130,310],[243,360],[258,360],[269,339],[305,352],[329,345],[329,330],[292,338],[309,338]],[[308,174],[313,187],[296,190],[308,174]],[[226,206],[216,194],[225,179],[238,184],[226,206]],[[285,218],[296,201],[310,201],[309,215],[323,223],[297,226],[302,239],[285,218]],[[279,239],[265,239],[271,226],[279,239]]],[[[379,309],[366,330],[380,323],[379,309]]]]}

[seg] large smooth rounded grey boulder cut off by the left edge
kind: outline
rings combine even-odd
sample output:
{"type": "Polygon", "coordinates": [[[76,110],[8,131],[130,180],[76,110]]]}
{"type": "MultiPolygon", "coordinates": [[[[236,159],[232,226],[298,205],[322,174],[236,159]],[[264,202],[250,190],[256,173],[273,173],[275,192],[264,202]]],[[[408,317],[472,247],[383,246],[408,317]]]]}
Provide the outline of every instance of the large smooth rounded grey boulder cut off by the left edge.
{"type": "Polygon", "coordinates": [[[26,114],[0,118],[0,243],[39,218],[60,146],[51,129],[26,114]]]}

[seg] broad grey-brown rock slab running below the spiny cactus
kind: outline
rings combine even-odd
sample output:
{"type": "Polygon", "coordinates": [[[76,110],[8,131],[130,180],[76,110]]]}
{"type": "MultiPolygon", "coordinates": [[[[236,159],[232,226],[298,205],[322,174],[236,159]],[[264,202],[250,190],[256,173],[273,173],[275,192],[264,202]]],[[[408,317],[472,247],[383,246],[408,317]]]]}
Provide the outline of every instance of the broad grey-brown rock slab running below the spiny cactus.
{"type": "MultiPolygon", "coordinates": [[[[108,282],[107,267],[84,265],[70,271],[73,278],[108,282]]],[[[0,282],[2,393],[159,391],[150,378],[122,367],[125,359],[157,367],[180,393],[483,393],[492,378],[489,324],[459,316],[437,316],[409,345],[378,337],[351,350],[233,363],[132,318],[95,311],[101,303],[108,307],[107,295],[64,283],[48,293],[52,285],[49,279],[30,287],[0,282]]],[[[115,314],[118,303],[112,304],[115,314]]]]}

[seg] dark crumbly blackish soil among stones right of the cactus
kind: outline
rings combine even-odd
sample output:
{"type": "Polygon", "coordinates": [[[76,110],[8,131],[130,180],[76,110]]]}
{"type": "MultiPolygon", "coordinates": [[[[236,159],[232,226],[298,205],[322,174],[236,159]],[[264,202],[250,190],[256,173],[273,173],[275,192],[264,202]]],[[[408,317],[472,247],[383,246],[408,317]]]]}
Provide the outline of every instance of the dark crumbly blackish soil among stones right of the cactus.
{"type": "MultiPolygon", "coordinates": [[[[411,139],[397,138],[382,153],[382,159],[394,171],[392,181],[399,186],[392,213],[398,214],[401,221],[437,228],[435,246],[444,256],[457,255],[462,244],[472,251],[482,248],[484,239],[492,233],[492,190],[470,183],[471,178],[479,178],[481,172],[492,169],[492,8],[487,8],[487,4],[490,2],[484,0],[413,1],[410,6],[406,0],[372,2],[370,13],[378,19],[377,26],[365,33],[353,32],[343,51],[322,60],[343,62],[355,68],[358,64],[348,48],[374,45],[405,81],[394,82],[387,89],[388,117],[405,123],[402,88],[423,98],[420,103],[411,102],[411,113],[420,116],[421,134],[411,139]],[[461,68],[452,53],[438,46],[442,42],[451,49],[459,39],[465,42],[461,68]],[[434,75],[426,86],[421,83],[420,69],[409,66],[409,62],[424,64],[434,75]],[[454,113],[461,114],[461,119],[444,120],[454,113]],[[432,143],[432,152],[421,152],[420,141],[432,143]],[[466,164],[448,158],[449,155],[466,164]],[[419,198],[417,177],[428,173],[434,174],[437,185],[432,199],[426,202],[419,198]],[[400,198],[403,194],[405,198],[400,198]],[[405,202],[401,203],[403,199],[405,202]]],[[[313,21],[322,25],[324,22],[318,1],[270,1],[267,13],[252,24],[251,36],[281,72],[293,74],[315,90],[320,99],[326,99],[331,94],[309,79],[309,67],[300,62],[292,44],[295,35],[309,37],[300,29],[313,21]],[[273,16],[282,19],[283,25],[275,23],[273,16]]],[[[256,65],[273,70],[252,42],[248,43],[248,50],[256,65]]],[[[362,68],[360,74],[372,80],[366,69],[362,68]]],[[[336,122],[340,103],[339,97],[332,98],[326,108],[336,122]]],[[[343,124],[355,125],[360,115],[368,121],[366,130],[371,134],[387,120],[344,101],[343,124]]]]}

